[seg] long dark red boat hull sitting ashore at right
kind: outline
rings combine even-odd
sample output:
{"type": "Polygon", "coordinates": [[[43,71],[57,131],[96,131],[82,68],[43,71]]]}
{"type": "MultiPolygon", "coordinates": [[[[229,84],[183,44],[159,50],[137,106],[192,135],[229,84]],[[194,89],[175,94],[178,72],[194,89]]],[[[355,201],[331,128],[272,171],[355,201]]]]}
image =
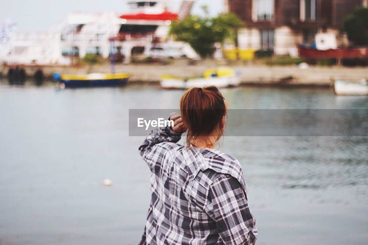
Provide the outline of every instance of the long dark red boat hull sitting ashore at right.
{"type": "Polygon", "coordinates": [[[302,45],[298,46],[299,55],[304,59],[325,59],[325,58],[358,58],[368,59],[368,47],[351,47],[347,49],[318,50],[302,45]]]}

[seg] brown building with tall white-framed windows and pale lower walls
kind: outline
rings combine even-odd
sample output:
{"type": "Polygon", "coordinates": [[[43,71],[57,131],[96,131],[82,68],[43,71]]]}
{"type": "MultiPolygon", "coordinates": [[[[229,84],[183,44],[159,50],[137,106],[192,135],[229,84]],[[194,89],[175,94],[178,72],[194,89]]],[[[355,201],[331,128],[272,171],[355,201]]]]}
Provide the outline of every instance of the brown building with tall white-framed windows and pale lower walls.
{"type": "Polygon", "coordinates": [[[245,23],[240,49],[297,56],[297,45],[314,43],[318,30],[339,35],[342,18],[357,5],[368,0],[225,0],[225,11],[245,23]]]}

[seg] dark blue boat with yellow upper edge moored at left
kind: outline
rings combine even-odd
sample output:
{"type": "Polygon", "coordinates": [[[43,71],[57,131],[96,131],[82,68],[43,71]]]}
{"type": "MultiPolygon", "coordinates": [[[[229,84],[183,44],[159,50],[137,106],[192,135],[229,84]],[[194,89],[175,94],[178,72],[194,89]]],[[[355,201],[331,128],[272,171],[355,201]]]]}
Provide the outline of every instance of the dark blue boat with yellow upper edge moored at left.
{"type": "Polygon", "coordinates": [[[61,75],[60,88],[123,86],[127,84],[129,77],[130,75],[128,73],[91,73],[86,75],[61,75]]]}

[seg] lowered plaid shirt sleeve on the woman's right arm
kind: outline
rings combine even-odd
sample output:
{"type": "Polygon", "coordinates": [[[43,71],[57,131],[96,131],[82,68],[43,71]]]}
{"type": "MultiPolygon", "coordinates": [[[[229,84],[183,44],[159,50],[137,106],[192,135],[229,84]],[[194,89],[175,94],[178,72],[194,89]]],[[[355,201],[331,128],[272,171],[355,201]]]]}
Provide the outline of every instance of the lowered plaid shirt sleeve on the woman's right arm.
{"type": "Polygon", "coordinates": [[[224,244],[255,244],[257,228],[245,191],[236,178],[220,175],[207,195],[205,212],[216,222],[224,244]]]}

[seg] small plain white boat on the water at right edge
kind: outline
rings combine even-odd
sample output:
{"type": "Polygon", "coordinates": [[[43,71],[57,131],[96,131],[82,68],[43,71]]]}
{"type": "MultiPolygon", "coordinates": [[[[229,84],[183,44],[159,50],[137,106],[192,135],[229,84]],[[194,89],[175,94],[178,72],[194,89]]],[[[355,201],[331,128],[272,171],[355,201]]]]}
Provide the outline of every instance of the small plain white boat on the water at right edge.
{"type": "Polygon", "coordinates": [[[363,79],[360,83],[335,80],[336,95],[368,95],[368,83],[363,79]]]}

